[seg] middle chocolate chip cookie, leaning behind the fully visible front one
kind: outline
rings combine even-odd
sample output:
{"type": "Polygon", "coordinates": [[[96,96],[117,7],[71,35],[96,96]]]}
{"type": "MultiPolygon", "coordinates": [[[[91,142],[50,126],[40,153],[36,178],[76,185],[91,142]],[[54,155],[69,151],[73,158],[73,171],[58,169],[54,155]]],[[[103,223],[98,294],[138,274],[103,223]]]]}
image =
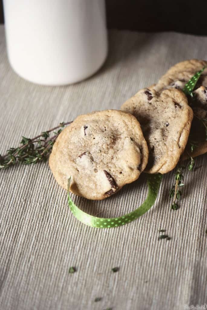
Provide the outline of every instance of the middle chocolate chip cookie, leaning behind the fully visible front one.
{"type": "Polygon", "coordinates": [[[183,153],[193,118],[187,97],[178,89],[161,93],[144,88],[127,100],[122,110],[140,122],[149,148],[148,173],[167,173],[183,153]]]}

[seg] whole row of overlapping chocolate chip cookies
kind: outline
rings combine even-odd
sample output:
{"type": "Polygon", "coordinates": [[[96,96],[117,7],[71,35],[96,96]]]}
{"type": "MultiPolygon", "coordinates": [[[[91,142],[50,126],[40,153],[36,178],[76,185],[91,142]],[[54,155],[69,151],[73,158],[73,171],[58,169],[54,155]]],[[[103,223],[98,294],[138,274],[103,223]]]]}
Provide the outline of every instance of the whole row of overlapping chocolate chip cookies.
{"type": "MultiPolygon", "coordinates": [[[[207,152],[207,69],[193,97],[182,91],[206,61],[176,64],[158,81],[127,100],[121,111],[78,116],[58,136],[49,165],[58,184],[88,199],[111,196],[140,173],[167,173],[182,158],[207,152]],[[196,144],[188,149],[188,139],[196,144]]],[[[191,142],[191,143],[192,143],[191,142]]]]}

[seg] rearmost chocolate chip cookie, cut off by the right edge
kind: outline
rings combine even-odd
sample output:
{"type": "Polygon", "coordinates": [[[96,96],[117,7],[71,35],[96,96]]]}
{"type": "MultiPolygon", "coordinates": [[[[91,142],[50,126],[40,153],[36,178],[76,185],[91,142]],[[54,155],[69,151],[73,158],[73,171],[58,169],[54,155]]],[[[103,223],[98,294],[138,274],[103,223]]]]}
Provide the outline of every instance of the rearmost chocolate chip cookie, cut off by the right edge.
{"type": "MultiPolygon", "coordinates": [[[[185,60],[171,67],[157,84],[150,89],[162,91],[167,88],[183,89],[192,76],[207,66],[205,60],[185,60]]],[[[203,71],[193,91],[193,98],[188,97],[188,103],[192,107],[194,118],[192,121],[189,143],[182,158],[196,157],[207,152],[205,126],[202,120],[207,117],[207,68],[203,71]],[[191,145],[196,145],[191,152],[191,145]]]]}

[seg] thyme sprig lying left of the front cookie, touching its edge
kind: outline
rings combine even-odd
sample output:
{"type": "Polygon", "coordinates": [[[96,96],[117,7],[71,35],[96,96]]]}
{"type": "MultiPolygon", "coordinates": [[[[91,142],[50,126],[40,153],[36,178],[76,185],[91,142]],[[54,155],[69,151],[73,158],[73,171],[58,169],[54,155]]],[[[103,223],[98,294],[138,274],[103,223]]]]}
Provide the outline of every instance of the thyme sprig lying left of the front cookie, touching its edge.
{"type": "Polygon", "coordinates": [[[32,139],[22,136],[20,145],[17,148],[9,148],[5,155],[0,155],[0,169],[6,169],[11,165],[15,165],[17,162],[29,165],[46,161],[63,127],[71,123],[62,122],[54,128],[43,131],[40,135],[32,139]],[[58,131],[55,131],[56,129],[58,131]],[[50,137],[50,132],[52,131],[54,135],[50,137]]]}

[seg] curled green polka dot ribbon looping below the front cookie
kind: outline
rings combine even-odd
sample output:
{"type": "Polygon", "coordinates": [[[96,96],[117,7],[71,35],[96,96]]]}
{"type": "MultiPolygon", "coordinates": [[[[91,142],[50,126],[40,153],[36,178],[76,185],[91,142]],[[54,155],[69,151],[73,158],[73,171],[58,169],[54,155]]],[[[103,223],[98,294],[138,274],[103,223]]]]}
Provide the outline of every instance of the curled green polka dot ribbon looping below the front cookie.
{"type": "Polygon", "coordinates": [[[71,177],[68,179],[68,188],[67,188],[67,197],[68,197],[68,205],[72,211],[72,214],[82,223],[96,227],[96,228],[113,228],[113,227],[118,227],[122,226],[125,224],[128,224],[135,219],[138,219],[141,215],[146,213],[151,206],[153,206],[157,194],[160,188],[162,180],[162,175],[160,173],[155,174],[155,175],[150,175],[147,174],[147,184],[148,184],[148,195],[146,200],[143,202],[143,204],[137,208],[136,210],[125,214],[120,217],[114,217],[114,218],[100,218],[96,217],[93,215],[89,215],[88,213],[80,210],[75,203],[72,201],[70,197],[70,182],[71,182],[71,177]]]}

